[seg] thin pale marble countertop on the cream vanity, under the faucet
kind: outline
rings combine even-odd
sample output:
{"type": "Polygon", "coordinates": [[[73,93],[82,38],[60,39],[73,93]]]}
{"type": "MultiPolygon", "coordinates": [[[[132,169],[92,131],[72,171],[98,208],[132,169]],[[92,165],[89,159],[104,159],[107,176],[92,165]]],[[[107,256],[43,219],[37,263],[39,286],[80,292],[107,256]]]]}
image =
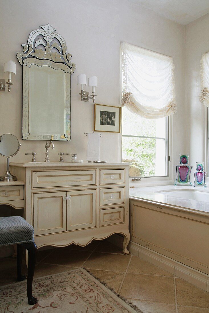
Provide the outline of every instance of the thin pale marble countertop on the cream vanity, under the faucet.
{"type": "Polygon", "coordinates": [[[10,166],[18,166],[18,167],[65,167],[65,166],[70,166],[70,167],[95,167],[95,166],[126,166],[130,165],[130,163],[125,163],[125,162],[119,162],[119,163],[88,163],[88,162],[11,162],[10,166]]]}

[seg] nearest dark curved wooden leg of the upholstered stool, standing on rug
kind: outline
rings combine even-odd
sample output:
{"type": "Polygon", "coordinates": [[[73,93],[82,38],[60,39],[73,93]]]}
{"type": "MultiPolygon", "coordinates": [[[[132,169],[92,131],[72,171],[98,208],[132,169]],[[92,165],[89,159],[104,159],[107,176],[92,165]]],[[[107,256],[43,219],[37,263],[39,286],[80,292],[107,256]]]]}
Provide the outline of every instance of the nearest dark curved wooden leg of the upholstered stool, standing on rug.
{"type": "Polygon", "coordinates": [[[32,295],[32,284],[33,284],[33,275],[35,270],[35,263],[37,258],[37,247],[35,242],[31,242],[29,244],[22,244],[25,249],[28,250],[28,278],[27,278],[27,295],[28,295],[28,303],[35,304],[37,303],[37,299],[32,295]]]}

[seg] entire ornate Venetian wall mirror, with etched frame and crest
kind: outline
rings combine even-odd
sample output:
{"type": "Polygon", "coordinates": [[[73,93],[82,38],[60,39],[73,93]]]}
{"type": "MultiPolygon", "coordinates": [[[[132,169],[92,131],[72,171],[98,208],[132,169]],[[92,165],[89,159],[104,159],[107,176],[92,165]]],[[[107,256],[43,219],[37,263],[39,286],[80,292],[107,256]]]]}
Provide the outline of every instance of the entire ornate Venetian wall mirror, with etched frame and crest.
{"type": "Polygon", "coordinates": [[[29,34],[23,52],[23,139],[71,140],[70,90],[75,64],[64,38],[49,24],[29,34]]]}

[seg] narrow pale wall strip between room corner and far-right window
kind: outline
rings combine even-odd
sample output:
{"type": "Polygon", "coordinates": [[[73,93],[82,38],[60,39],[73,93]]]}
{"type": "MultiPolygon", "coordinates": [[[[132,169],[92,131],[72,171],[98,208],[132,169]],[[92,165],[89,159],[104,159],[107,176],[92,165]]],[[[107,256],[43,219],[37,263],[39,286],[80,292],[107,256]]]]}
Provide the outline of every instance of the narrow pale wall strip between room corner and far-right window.
{"type": "MultiPolygon", "coordinates": [[[[185,27],[185,125],[186,151],[190,164],[205,161],[206,107],[199,101],[201,91],[200,60],[209,51],[209,14],[185,27]]],[[[207,169],[208,171],[208,169],[207,169]]],[[[192,176],[192,181],[193,181],[192,176]]]]}

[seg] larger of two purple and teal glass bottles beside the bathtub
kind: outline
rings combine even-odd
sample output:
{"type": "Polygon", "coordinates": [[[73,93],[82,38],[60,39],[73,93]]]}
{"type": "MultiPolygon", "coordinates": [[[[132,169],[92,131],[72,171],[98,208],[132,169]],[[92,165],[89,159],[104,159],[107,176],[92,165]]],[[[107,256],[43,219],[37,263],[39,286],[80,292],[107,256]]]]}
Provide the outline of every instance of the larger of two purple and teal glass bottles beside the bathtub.
{"type": "Polygon", "coordinates": [[[176,185],[192,185],[190,182],[190,173],[192,166],[188,165],[189,163],[189,155],[180,154],[180,165],[176,165],[176,181],[174,186],[176,185]]]}

